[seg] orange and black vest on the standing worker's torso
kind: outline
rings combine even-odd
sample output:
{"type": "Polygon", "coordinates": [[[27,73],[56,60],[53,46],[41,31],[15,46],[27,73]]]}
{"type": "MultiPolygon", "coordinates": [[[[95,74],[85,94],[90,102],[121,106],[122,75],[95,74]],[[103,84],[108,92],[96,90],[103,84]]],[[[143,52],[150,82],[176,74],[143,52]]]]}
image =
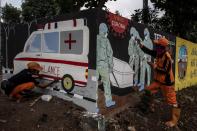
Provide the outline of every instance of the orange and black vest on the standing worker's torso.
{"type": "Polygon", "coordinates": [[[162,57],[156,57],[154,70],[154,80],[165,85],[174,84],[174,75],[172,71],[172,58],[168,52],[164,53],[162,57]]]}

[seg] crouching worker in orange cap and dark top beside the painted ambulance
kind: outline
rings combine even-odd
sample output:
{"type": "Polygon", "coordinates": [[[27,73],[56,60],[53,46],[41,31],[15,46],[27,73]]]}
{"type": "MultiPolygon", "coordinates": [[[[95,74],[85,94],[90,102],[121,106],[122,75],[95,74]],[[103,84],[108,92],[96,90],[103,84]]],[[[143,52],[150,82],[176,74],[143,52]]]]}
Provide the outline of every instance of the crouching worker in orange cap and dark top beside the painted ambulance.
{"type": "Polygon", "coordinates": [[[30,62],[27,64],[27,67],[28,69],[23,69],[18,74],[1,83],[1,88],[4,90],[4,93],[8,95],[9,98],[16,99],[17,102],[20,102],[23,97],[21,95],[23,91],[31,90],[35,86],[45,88],[51,84],[39,84],[37,81],[39,72],[42,70],[42,67],[38,63],[30,62]]]}

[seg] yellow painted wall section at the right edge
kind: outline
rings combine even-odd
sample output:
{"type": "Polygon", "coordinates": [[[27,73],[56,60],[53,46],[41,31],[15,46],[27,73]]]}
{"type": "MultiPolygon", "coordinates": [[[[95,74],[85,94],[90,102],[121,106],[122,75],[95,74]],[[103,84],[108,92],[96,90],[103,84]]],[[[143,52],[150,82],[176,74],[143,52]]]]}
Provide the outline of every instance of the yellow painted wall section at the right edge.
{"type": "Polygon", "coordinates": [[[181,90],[197,84],[197,45],[176,38],[175,87],[181,90]]]}

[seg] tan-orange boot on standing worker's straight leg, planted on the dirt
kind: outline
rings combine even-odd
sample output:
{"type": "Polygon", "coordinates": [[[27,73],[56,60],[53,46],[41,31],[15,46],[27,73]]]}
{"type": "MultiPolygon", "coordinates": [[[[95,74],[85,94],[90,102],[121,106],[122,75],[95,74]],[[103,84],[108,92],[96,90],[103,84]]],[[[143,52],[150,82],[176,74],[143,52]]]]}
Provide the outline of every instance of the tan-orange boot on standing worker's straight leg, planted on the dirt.
{"type": "Polygon", "coordinates": [[[177,123],[178,123],[178,120],[180,118],[180,113],[181,113],[181,109],[180,108],[173,107],[172,108],[172,119],[170,121],[167,121],[165,123],[165,125],[168,126],[168,127],[176,126],[177,123]]]}

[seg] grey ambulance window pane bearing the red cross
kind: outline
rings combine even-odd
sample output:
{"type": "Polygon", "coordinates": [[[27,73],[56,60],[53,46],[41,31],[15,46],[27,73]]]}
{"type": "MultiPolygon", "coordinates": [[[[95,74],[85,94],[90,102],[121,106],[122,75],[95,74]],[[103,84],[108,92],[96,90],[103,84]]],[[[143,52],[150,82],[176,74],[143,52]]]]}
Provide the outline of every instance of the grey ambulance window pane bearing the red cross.
{"type": "Polygon", "coordinates": [[[62,31],[60,33],[60,53],[82,54],[83,30],[62,31]]]}

